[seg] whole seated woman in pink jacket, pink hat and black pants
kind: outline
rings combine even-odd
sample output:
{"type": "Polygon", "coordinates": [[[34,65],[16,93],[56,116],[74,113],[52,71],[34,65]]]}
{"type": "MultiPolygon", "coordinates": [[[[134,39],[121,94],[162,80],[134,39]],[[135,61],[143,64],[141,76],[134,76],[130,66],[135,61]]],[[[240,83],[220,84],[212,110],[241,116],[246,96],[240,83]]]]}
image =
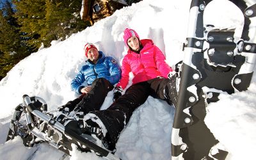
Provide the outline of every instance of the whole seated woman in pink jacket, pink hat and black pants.
{"type": "Polygon", "coordinates": [[[119,134],[129,122],[132,112],[149,95],[166,100],[169,104],[176,103],[175,76],[170,76],[172,68],[166,64],[160,49],[152,40],[140,40],[133,29],[125,29],[124,42],[129,50],[122,61],[122,77],[114,91],[115,102],[108,109],[94,111],[84,118],[86,126],[98,128],[86,130],[100,131],[90,134],[98,135],[109,150],[115,148],[119,134]],[[129,82],[130,72],[134,75],[132,85],[122,95],[122,90],[129,82]]]}

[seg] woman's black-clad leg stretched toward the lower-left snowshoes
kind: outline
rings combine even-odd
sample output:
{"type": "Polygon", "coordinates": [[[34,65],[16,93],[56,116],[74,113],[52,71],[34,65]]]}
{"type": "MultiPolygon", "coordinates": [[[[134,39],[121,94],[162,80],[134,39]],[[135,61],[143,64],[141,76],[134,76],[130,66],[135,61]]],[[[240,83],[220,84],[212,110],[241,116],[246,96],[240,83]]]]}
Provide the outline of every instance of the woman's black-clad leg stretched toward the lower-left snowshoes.
{"type": "Polygon", "coordinates": [[[134,84],[108,109],[95,111],[95,115],[108,131],[106,140],[109,142],[110,149],[115,148],[119,134],[129,122],[132,112],[147,100],[149,89],[147,82],[134,84]]]}

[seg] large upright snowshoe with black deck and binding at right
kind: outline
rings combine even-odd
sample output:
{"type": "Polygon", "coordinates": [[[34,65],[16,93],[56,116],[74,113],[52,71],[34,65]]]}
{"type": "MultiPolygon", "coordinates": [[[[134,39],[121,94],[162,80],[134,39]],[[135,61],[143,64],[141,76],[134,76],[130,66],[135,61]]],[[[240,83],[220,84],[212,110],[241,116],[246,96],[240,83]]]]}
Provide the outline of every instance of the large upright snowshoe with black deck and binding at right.
{"type": "Polygon", "coordinates": [[[205,6],[210,2],[191,2],[185,57],[177,77],[180,83],[172,130],[172,159],[227,157],[228,152],[205,125],[206,108],[219,100],[220,93],[247,90],[253,75],[256,1],[231,1],[244,15],[240,39],[234,37],[235,30],[228,29],[230,26],[220,29],[204,25],[205,6]]]}

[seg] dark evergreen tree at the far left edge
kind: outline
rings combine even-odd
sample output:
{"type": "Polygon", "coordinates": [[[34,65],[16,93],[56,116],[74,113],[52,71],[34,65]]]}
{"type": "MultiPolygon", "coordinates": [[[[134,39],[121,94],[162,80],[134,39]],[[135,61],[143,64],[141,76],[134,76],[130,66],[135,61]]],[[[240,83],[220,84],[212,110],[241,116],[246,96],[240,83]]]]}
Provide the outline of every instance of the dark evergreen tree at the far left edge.
{"type": "Polygon", "coordinates": [[[29,55],[29,49],[22,44],[19,25],[13,15],[12,4],[6,1],[0,10],[0,78],[29,55]]]}

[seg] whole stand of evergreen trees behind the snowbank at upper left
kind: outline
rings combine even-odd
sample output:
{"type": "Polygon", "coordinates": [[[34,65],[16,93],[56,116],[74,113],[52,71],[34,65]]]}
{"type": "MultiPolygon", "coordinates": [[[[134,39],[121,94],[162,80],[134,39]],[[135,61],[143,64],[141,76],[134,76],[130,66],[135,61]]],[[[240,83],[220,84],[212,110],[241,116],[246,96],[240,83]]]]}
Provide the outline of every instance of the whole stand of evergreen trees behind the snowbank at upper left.
{"type": "Polygon", "coordinates": [[[82,0],[0,0],[0,81],[31,53],[90,26],[81,20],[81,5],[82,0]]]}

